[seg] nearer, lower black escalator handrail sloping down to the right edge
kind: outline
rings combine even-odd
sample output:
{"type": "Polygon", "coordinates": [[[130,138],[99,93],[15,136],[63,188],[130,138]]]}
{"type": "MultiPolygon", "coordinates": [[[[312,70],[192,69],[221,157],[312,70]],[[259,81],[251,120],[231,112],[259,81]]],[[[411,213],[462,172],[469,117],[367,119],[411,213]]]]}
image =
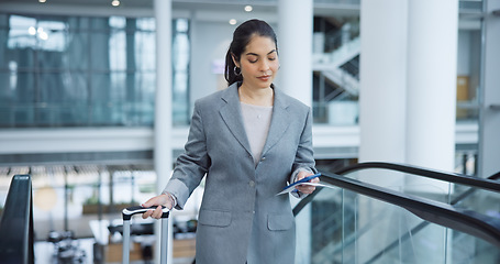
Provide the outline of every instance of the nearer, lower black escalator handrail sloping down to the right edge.
{"type": "Polygon", "coordinates": [[[429,222],[471,234],[500,248],[499,219],[335,174],[325,173],[321,177],[323,183],[399,206],[429,222]]]}

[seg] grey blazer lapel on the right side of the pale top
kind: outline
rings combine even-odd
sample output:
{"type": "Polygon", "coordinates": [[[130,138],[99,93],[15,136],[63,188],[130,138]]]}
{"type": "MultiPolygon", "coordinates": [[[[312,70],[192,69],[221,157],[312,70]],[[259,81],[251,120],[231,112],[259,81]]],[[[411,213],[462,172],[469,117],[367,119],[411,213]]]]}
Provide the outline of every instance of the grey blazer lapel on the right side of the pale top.
{"type": "Polygon", "coordinates": [[[270,128],[269,132],[267,134],[267,140],[266,144],[264,145],[263,150],[263,156],[268,152],[278,141],[281,139],[281,136],[285,134],[285,132],[288,130],[288,127],[290,124],[290,114],[288,113],[288,101],[279,91],[278,89],[275,88],[275,101],[274,101],[274,107],[273,107],[273,118],[270,121],[270,128]]]}

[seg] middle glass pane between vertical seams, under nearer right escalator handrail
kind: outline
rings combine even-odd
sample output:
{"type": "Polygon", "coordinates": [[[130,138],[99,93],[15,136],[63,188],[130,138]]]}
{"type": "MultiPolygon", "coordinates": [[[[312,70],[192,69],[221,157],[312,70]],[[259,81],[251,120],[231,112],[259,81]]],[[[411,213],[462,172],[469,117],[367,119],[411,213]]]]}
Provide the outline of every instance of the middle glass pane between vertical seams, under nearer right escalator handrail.
{"type": "Polygon", "coordinates": [[[445,228],[368,197],[356,196],[355,202],[358,208],[352,235],[360,263],[445,263],[445,228]],[[426,227],[421,229],[421,224],[426,227]]]}

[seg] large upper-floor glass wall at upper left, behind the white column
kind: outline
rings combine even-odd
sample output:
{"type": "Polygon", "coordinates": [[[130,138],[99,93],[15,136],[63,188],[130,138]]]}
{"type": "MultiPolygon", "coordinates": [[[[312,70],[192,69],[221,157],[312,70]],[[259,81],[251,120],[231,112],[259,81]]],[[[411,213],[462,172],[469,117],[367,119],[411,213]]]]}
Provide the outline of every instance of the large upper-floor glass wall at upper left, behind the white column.
{"type": "MultiPolygon", "coordinates": [[[[0,37],[7,40],[0,47],[2,128],[153,124],[154,18],[1,19],[0,37]]],[[[182,67],[174,78],[174,114],[182,124],[189,112],[188,26],[188,20],[176,24],[181,53],[176,65],[182,67]]]]}

